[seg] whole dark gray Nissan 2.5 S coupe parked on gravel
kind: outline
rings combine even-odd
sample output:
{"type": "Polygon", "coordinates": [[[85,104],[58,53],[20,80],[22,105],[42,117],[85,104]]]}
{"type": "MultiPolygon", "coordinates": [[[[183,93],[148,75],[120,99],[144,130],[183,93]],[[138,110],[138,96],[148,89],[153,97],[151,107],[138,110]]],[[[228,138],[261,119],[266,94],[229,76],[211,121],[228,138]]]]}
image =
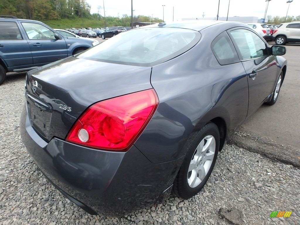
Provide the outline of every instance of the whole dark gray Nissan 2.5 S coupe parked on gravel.
{"type": "Polygon", "coordinates": [[[52,184],[90,214],[188,199],[218,152],[278,98],[283,46],[239,22],[182,21],[123,32],[31,70],[22,140],[52,184]]]}

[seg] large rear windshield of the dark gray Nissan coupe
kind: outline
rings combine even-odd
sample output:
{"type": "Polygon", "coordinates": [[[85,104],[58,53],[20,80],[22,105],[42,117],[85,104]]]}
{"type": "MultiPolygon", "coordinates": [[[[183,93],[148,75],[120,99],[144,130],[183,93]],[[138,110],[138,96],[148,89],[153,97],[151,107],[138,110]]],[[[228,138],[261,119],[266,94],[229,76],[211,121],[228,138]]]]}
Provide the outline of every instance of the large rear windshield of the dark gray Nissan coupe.
{"type": "Polygon", "coordinates": [[[181,28],[142,28],[122,32],[79,54],[78,58],[117,64],[153,66],[186,52],[200,33],[181,28]]]}

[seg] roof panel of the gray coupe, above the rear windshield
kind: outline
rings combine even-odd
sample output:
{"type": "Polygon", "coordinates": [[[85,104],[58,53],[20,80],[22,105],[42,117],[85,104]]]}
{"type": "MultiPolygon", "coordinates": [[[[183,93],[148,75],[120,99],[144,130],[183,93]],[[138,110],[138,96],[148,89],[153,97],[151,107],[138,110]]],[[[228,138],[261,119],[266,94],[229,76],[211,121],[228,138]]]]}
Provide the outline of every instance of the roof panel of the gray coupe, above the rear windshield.
{"type": "Polygon", "coordinates": [[[171,22],[171,23],[155,23],[148,26],[141,26],[140,29],[148,28],[148,27],[174,27],[174,28],[185,28],[185,29],[191,29],[195,31],[203,30],[207,27],[214,26],[217,24],[226,24],[230,25],[232,27],[234,26],[246,26],[245,23],[241,22],[231,22],[231,21],[220,21],[220,20],[183,20],[183,21],[177,21],[177,22],[171,22]]]}

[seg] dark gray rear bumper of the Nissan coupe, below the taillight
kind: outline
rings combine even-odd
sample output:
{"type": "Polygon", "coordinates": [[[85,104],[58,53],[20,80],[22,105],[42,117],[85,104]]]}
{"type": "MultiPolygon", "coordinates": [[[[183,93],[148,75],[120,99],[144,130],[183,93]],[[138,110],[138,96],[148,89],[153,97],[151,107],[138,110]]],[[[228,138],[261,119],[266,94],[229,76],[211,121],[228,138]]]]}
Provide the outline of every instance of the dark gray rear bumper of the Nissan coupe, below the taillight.
{"type": "Polygon", "coordinates": [[[32,128],[26,107],[20,131],[44,175],[90,214],[123,216],[163,202],[183,159],[153,164],[135,146],[125,153],[85,148],[58,138],[47,143],[32,128]]]}

